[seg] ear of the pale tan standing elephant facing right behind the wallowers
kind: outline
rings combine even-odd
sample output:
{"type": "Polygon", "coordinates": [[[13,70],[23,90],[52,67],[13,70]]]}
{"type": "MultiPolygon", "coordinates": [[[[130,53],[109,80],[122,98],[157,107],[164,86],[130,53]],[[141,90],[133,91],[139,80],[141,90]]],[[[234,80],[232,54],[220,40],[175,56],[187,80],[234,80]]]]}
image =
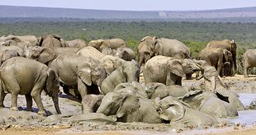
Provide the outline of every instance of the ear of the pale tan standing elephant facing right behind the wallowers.
{"type": "Polygon", "coordinates": [[[186,77],[181,59],[173,59],[168,61],[168,70],[179,77],[186,77]]]}

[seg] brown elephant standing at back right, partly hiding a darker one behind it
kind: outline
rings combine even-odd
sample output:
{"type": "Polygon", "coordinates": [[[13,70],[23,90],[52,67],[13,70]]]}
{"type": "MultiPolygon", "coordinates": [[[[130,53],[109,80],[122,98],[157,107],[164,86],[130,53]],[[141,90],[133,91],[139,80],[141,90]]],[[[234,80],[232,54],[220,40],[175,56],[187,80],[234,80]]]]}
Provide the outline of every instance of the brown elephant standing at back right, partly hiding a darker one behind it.
{"type": "MultiPolygon", "coordinates": [[[[222,70],[226,64],[230,65],[229,71],[232,71],[233,61],[232,61],[232,54],[227,49],[202,49],[201,52],[197,56],[198,60],[205,60],[206,63],[209,63],[211,66],[216,67],[220,77],[222,77],[222,70]],[[227,62],[227,63],[225,63],[227,62]]],[[[225,69],[225,72],[228,69],[225,69]]],[[[230,74],[229,74],[230,75],[230,74]]]]}

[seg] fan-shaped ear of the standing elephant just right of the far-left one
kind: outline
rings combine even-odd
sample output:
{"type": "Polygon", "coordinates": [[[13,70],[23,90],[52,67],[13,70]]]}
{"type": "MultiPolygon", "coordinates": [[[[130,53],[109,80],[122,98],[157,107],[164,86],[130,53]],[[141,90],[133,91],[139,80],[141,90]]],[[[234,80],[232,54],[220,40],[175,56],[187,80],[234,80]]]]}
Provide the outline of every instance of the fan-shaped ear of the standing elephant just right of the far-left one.
{"type": "Polygon", "coordinates": [[[77,66],[78,77],[88,86],[92,85],[92,69],[89,64],[77,66]]]}

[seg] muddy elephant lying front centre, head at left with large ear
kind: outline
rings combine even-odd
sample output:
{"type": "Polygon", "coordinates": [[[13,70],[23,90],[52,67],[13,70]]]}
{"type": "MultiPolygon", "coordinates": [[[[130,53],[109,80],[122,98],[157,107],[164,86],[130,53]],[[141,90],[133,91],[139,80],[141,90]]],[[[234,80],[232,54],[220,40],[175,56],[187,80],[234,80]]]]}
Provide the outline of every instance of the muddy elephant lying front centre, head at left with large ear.
{"type": "Polygon", "coordinates": [[[107,93],[97,113],[116,114],[117,121],[125,123],[162,123],[152,100],[118,92],[107,93]]]}

